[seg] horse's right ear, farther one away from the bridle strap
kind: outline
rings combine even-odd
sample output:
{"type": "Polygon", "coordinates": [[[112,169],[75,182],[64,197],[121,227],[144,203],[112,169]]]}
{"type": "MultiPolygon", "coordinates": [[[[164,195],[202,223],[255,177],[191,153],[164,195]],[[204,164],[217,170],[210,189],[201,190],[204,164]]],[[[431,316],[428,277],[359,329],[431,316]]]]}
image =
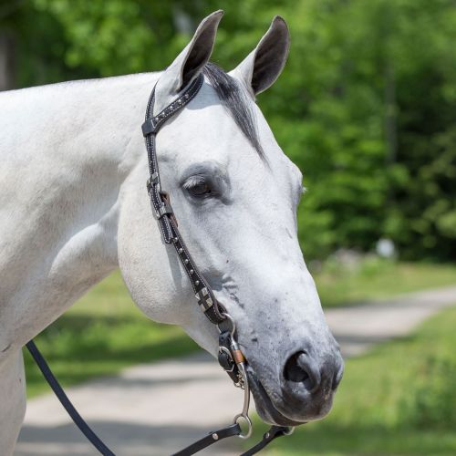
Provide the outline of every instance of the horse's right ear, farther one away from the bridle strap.
{"type": "Polygon", "coordinates": [[[254,97],[275,82],[285,67],[290,34],[284,18],[275,16],[258,46],[230,72],[241,79],[254,97]]]}

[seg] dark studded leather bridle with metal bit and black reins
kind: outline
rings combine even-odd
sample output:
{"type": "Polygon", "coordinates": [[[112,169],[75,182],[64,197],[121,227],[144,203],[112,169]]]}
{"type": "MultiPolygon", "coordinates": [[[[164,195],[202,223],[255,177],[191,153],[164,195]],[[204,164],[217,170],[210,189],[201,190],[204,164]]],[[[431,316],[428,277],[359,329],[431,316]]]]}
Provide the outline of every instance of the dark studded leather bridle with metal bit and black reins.
{"type": "MultiPolygon", "coordinates": [[[[192,98],[196,96],[200,88],[202,88],[203,76],[200,74],[192,83],[181,91],[181,95],[174,99],[170,105],[162,109],[159,114],[153,116],[153,105],[155,102],[155,88],[153,88],[149,102],[147,104],[145,121],[142,124],[142,134],[145,138],[146,149],[149,161],[150,177],[147,181],[147,191],[150,197],[150,206],[157,219],[161,237],[165,244],[172,244],[176,250],[177,256],[190,279],[194,295],[198,301],[198,305],[202,309],[204,315],[209,321],[217,326],[219,331],[219,364],[233,380],[234,386],[244,389],[244,406],[240,413],[233,418],[233,423],[222,428],[210,432],[200,440],[193,442],[188,447],[174,453],[174,456],[188,456],[197,451],[216,443],[217,441],[228,437],[238,436],[241,439],[248,439],[252,435],[252,421],[249,418],[250,404],[250,389],[247,373],[245,370],[246,359],[236,341],[236,325],[233,317],[228,314],[226,309],[217,301],[213,295],[212,288],[202,275],[201,271],[196,266],[192,259],[187,246],[183,242],[181,233],[178,229],[177,218],[171,207],[170,195],[164,192],[161,188],[161,178],[159,165],[157,160],[157,150],[155,139],[161,126],[175,115],[192,98]],[[247,424],[247,430],[243,433],[240,426],[240,421],[244,420],[247,424]]],[[[112,451],[98,438],[98,436],[88,427],[88,424],[79,415],[78,411],[71,404],[65,391],[59,385],[57,378],[54,377],[50,368],[47,366],[45,358],[41,355],[33,340],[26,344],[32,357],[36,360],[38,368],[41,369],[43,375],[47,379],[50,387],[54,390],[57,398],[62,405],[67,409],[71,419],[76,423],[78,428],[84,433],[88,440],[97,448],[97,450],[105,456],[115,456],[112,451]]],[[[267,444],[277,437],[289,435],[293,428],[285,426],[272,426],[270,430],[264,433],[263,440],[260,440],[250,450],[245,451],[241,456],[250,456],[262,450],[267,444]]]]}

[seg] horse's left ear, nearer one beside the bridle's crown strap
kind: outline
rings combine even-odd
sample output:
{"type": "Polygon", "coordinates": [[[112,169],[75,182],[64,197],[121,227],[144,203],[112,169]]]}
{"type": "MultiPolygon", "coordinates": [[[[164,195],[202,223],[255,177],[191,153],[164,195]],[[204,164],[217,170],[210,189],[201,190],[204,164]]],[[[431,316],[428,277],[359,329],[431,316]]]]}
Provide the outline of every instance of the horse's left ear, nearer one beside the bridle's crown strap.
{"type": "Polygon", "coordinates": [[[163,72],[155,88],[154,114],[170,105],[182,88],[188,86],[202,72],[211,57],[222,16],[223,10],[220,9],[202,19],[192,41],[163,72]]]}

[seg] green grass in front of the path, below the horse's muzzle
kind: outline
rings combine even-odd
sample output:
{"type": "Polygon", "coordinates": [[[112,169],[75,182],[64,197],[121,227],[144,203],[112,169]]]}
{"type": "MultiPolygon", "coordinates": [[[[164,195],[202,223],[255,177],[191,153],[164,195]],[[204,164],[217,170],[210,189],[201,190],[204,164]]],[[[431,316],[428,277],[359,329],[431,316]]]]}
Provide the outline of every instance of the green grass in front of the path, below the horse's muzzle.
{"type": "Polygon", "coordinates": [[[349,359],[329,416],[265,454],[456,454],[455,327],[456,307],[410,337],[349,359]]]}

